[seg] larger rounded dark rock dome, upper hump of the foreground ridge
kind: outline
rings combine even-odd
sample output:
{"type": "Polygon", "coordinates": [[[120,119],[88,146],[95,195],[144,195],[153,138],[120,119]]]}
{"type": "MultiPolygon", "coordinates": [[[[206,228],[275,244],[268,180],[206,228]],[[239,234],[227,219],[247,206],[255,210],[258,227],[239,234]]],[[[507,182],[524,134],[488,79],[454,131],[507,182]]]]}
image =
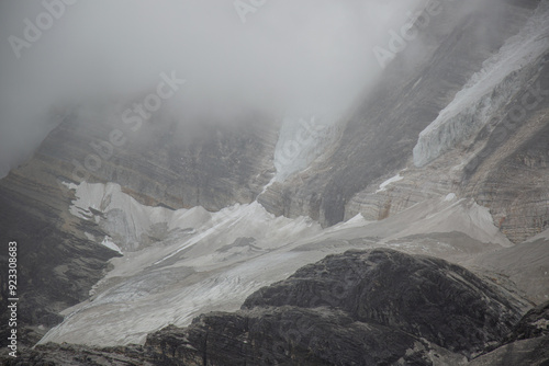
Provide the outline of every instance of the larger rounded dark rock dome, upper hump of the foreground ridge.
{"type": "Polygon", "coordinates": [[[516,302],[463,267],[381,249],[329,255],[253,294],[243,308],[283,305],[340,308],[466,354],[505,335],[519,313],[516,302]]]}

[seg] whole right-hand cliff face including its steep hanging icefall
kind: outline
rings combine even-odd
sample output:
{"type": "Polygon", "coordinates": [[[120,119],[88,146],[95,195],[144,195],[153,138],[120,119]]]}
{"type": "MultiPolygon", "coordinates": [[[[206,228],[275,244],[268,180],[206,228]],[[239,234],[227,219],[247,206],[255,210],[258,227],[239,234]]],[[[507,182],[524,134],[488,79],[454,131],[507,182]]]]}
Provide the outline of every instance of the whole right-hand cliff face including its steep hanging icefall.
{"type": "Polygon", "coordinates": [[[442,12],[428,30],[416,39],[427,44],[421,55],[413,47],[399,55],[341,122],[328,157],[259,202],[329,226],[358,213],[383,219],[456,193],[490,207],[513,242],[546,228],[547,3],[508,1],[497,14],[460,20],[442,12]],[[485,30],[486,16],[502,27],[485,30]],[[379,190],[399,173],[402,181],[379,190]]]}

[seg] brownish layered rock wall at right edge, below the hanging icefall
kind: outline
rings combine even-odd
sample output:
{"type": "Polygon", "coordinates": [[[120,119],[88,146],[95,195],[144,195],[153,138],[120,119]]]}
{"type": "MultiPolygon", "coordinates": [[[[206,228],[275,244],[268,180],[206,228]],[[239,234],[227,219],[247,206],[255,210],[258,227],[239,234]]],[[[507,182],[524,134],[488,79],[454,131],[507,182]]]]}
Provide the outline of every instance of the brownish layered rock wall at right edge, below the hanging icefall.
{"type": "MultiPolygon", "coordinates": [[[[549,227],[549,50],[536,75],[483,133],[483,148],[464,167],[463,192],[489,207],[494,222],[512,241],[522,242],[549,227]],[[541,89],[528,111],[531,90],[541,89]],[[524,112],[520,119],[513,117],[524,112]]],[[[480,144],[479,144],[480,145],[480,144]]]]}

